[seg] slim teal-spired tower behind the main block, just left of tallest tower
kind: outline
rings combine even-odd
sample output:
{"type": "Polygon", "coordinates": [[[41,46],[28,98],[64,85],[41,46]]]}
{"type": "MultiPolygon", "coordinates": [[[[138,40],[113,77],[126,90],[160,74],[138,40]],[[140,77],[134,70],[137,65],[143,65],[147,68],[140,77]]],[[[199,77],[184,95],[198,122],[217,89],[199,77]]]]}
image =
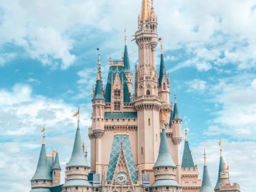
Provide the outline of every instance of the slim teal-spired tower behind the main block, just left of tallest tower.
{"type": "Polygon", "coordinates": [[[132,70],[129,65],[129,55],[128,55],[128,49],[127,49],[127,36],[126,35],[125,35],[125,46],[124,46],[124,73],[127,78],[129,96],[132,97],[132,70]]]}

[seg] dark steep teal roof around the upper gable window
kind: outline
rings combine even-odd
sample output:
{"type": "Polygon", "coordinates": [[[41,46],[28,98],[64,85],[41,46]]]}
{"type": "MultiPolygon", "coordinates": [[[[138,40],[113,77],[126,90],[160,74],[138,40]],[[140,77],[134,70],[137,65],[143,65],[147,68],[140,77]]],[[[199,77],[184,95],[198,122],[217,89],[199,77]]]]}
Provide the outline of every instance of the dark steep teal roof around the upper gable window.
{"type": "Polygon", "coordinates": [[[123,66],[116,66],[112,65],[110,66],[109,73],[107,75],[107,85],[106,85],[106,90],[105,90],[105,101],[106,102],[111,102],[111,87],[112,87],[112,82],[114,82],[114,77],[116,77],[116,73],[118,73],[120,80],[122,80],[123,83],[123,90],[122,94],[124,96],[124,102],[131,102],[131,97],[129,95],[129,89],[127,85],[127,78],[125,76],[124,72],[124,67],[123,66]]]}

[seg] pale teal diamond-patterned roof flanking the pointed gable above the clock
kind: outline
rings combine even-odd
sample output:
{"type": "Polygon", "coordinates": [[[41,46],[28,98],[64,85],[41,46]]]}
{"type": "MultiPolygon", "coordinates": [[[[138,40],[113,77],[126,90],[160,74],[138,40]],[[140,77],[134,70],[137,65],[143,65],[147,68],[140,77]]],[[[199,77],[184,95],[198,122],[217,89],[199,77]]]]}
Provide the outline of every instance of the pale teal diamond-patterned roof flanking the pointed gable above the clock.
{"type": "Polygon", "coordinates": [[[114,176],[114,171],[117,166],[118,156],[121,149],[121,143],[123,144],[124,156],[127,161],[127,166],[129,169],[129,174],[132,180],[138,180],[137,172],[135,169],[134,159],[132,156],[131,144],[129,142],[129,135],[126,134],[116,134],[114,135],[114,140],[112,143],[112,149],[110,153],[110,162],[107,169],[107,180],[111,181],[114,176]]]}

